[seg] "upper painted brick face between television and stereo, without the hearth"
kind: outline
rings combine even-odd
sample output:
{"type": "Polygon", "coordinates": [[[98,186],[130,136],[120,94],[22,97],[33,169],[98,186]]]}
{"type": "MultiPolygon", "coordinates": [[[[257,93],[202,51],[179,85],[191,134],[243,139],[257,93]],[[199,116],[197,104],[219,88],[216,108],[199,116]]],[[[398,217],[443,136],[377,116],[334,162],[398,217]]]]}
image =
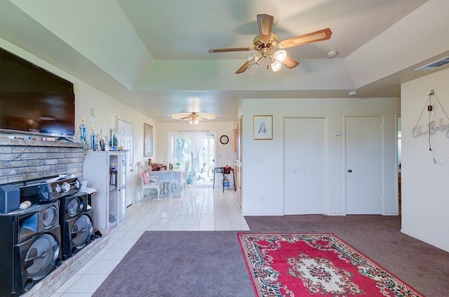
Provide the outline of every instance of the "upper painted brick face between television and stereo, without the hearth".
{"type": "Polygon", "coordinates": [[[83,175],[81,143],[0,136],[0,185],[73,173],[83,175]]]}

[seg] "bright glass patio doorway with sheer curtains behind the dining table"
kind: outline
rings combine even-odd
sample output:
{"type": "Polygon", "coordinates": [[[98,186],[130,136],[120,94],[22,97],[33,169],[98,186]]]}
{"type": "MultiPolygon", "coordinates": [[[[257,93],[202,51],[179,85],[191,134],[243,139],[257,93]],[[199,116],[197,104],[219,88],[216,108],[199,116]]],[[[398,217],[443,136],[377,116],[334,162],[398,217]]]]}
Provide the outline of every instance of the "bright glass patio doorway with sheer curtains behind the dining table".
{"type": "Polygon", "coordinates": [[[170,162],[185,168],[186,161],[189,160],[188,185],[213,185],[216,136],[217,133],[208,131],[168,133],[167,155],[170,156],[170,162]]]}

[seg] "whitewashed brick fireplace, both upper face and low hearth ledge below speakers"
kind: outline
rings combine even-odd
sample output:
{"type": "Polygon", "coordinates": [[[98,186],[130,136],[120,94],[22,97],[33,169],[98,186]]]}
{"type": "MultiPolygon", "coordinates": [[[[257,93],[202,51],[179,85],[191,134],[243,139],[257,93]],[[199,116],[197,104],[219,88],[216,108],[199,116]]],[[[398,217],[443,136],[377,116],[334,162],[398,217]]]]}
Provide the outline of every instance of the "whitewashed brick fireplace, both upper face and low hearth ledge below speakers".
{"type": "MultiPolygon", "coordinates": [[[[82,180],[83,159],[84,150],[81,143],[35,140],[22,136],[10,138],[7,135],[0,135],[0,185],[67,173],[72,173],[82,180]]],[[[62,261],[60,267],[22,296],[51,296],[103,249],[108,241],[106,234],[100,239],[95,239],[72,258],[62,261]]]]}

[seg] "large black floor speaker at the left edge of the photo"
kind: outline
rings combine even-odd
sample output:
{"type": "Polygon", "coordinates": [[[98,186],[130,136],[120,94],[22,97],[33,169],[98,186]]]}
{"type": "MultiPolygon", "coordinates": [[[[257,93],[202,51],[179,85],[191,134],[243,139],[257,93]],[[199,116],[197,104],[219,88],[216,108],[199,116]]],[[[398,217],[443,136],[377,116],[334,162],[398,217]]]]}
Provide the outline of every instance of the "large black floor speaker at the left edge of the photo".
{"type": "Polygon", "coordinates": [[[60,202],[0,214],[0,296],[20,296],[58,268],[60,202]]]}

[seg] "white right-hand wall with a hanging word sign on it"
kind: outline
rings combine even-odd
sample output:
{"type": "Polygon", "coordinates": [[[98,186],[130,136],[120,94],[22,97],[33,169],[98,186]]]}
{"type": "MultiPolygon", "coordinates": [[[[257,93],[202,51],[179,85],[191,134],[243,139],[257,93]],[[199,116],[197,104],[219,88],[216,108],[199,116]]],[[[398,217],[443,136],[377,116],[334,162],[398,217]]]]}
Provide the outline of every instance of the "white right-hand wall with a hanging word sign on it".
{"type": "Polygon", "coordinates": [[[434,119],[448,125],[449,69],[409,81],[401,86],[402,126],[402,232],[449,251],[449,138],[448,128],[431,136],[414,138],[412,129],[418,123],[427,130],[427,100],[432,96],[434,119]],[[420,119],[420,114],[425,109],[420,119]],[[444,113],[445,112],[445,113],[444,113]],[[418,120],[420,119],[420,120],[418,120]],[[435,163],[434,164],[434,159],[435,163]]]}

